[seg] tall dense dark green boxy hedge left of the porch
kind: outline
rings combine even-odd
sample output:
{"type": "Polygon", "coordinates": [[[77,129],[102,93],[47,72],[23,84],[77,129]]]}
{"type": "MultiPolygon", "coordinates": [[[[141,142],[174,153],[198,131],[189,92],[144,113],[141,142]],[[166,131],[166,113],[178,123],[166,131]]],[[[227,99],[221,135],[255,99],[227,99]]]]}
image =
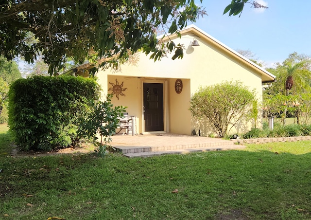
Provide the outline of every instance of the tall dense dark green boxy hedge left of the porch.
{"type": "Polygon", "coordinates": [[[75,146],[81,118],[99,99],[95,79],[33,76],[9,90],[9,127],[22,150],[75,146]]]}

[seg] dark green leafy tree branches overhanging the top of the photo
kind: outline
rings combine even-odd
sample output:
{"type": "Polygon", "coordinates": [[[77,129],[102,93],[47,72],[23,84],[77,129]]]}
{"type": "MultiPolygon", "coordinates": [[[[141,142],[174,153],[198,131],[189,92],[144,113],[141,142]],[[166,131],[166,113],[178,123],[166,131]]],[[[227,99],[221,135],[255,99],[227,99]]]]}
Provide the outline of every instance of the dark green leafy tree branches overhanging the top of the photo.
{"type": "MultiPolygon", "coordinates": [[[[232,0],[224,14],[241,14],[245,3],[262,6],[232,0]]],[[[159,28],[178,34],[200,14],[205,11],[194,0],[1,0],[0,55],[34,62],[41,53],[50,74],[69,57],[75,63],[104,58],[105,65],[142,49],[156,60],[166,51],[180,52],[156,38],[159,28]]]]}

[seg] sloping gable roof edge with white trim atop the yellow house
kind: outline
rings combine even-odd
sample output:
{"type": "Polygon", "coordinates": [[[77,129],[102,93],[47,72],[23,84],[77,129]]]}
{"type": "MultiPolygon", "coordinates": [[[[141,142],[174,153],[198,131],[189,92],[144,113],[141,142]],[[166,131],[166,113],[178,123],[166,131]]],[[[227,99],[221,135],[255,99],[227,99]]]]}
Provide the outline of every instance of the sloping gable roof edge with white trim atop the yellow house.
{"type": "MultiPolygon", "coordinates": [[[[275,81],[275,78],[276,78],[275,75],[273,75],[272,73],[269,73],[268,71],[266,71],[265,69],[263,69],[262,67],[257,65],[256,63],[252,62],[248,58],[239,54],[235,50],[231,49],[230,47],[228,47],[224,43],[217,40],[216,38],[210,36],[205,31],[198,28],[194,24],[190,24],[189,26],[185,27],[183,30],[180,31],[181,35],[187,34],[187,33],[192,33],[194,35],[197,35],[198,37],[201,37],[201,38],[207,40],[208,42],[212,43],[216,47],[221,48],[222,50],[225,50],[227,53],[229,53],[233,57],[237,58],[238,60],[241,60],[242,63],[244,63],[246,66],[249,66],[251,69],[258,71],[259,73],[264,75],[265,78],[267,78],[267,80],[263,80],[262,83],[268,83],[268,82],[274,82],[275,81]]],[[[168,40],[168,39],[173,38],[173,37],[177,37],[177,34],[173,34],[173,35],[169,35],[169,36],[162,35],[159,38],[163,38],[164,40],[168,40]]]]}

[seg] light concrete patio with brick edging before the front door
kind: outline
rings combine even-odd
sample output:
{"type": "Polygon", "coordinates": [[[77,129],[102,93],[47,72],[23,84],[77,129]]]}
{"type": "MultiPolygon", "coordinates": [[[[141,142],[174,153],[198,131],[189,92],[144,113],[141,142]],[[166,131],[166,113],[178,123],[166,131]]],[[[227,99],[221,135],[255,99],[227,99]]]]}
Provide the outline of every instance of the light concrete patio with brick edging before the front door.
{"type": "Polygon", "coordinates": [[[172,133],[114,135],[111,145],[126,157],[150,157],[210,150],[242,149],[245,146],[221,138],[172,133]]]}

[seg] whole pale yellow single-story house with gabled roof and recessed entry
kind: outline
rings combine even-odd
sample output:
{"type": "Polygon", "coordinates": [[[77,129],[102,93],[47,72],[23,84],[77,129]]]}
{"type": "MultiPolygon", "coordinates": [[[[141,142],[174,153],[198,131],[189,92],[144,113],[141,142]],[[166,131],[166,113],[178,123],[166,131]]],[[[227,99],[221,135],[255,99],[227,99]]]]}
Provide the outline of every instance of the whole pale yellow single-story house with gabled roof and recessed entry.
{"type": "MultiPolygon", "coordinates": [[[[135,116],[134,133],[171,132],[191,135],[194,129],[207,136],[211,130],[197,124],[190,114],[191,94],[200,86],[225,80],[239,80],[256,89],[262,100],[262,84],[273,82],[275,76],[238,54],[194,25],[177,35],[169,36],[175,45],[185,47],[182,59],[172,59],[173,53],[154,61],[138,52],[118,70],[100,70],[96,76],[103,96],[113,93],[112,104],[126,106],[129,116],[135,116]]],[[[168,39],[167,37],[164,38],[168,39]]],[[[259,124],[262,119],[259,115],[259,124]]],[[[241,126],[235,132],[251,128],[241,126]]]]}

